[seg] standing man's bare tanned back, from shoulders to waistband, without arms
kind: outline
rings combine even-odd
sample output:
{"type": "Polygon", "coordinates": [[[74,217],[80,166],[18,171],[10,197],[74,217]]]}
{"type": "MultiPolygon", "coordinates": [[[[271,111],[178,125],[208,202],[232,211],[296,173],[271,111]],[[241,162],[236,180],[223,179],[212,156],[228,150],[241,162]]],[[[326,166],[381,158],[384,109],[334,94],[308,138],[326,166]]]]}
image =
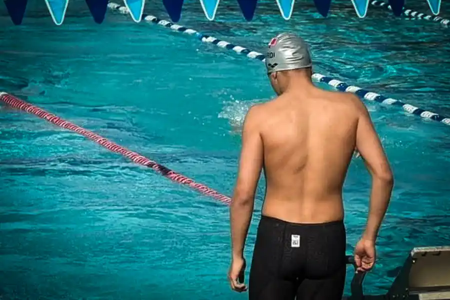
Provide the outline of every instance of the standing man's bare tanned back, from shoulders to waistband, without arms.
{"type": "Polygon", "coordinates": [[[308,94],[285,92],[258,108],[264,215],[302,223],[343,218],[342,185],[358,123],[354,100],[315,88],[308,94]]]}

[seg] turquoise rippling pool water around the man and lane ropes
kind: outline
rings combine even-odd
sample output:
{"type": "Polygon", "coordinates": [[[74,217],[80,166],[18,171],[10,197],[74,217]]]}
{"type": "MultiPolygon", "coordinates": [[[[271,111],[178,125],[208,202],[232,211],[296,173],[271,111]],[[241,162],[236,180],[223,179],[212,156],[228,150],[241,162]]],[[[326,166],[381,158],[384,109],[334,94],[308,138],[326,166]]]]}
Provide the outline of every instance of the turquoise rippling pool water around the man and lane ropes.
{"type": "MultiPolygon", "coordinates": [[[[374,7],[361,20],[349,1],[333,3],[328,19],[305,5],[286,22],[263,1],[246,23],[237,3],[223,1],[217,21],[208,22],[199,3],[187,1],[180,24],[259,51],[277,32],[296,31],[311,43],[315,71],[450,115],[450,29],[374,7]]],[[[145,10],[167,18],[159,1],[145,10]]],[[[230,194],[240,143],[234,128],[249,105],[274,96],[260,61],[118,14],[96,25],[83,1],[70,2],[60,27],[39,1],[20,27],[4,9],[0,15],[0,90],[230,194]]],[[[413,246],[450,244],[450,128],[365,103],[396,178],[364,287],[382,293],[413,246]]],[[[349,253],[363,230],[369,187],[363,164],[353,161],[344,189],[349,253]]],[[[0,197],[3,299],[246,297],[226,281],[225,205],[4,106],[0,197]]]]}

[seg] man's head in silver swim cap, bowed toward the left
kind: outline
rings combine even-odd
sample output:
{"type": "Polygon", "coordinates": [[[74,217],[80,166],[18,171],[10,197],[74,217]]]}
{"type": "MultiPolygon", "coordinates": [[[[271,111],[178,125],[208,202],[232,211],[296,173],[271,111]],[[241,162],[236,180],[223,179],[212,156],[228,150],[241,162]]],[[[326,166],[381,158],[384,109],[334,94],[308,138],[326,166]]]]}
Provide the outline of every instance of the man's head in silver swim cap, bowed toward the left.
{"type": "Polygon", "coordinates": [[[306,70],[310,76],[311,66],[309,46],[301,37],[284,32],[270,40],[265,53],[265,67],[277,94],[287,87],[288,73],[306,70]]]}

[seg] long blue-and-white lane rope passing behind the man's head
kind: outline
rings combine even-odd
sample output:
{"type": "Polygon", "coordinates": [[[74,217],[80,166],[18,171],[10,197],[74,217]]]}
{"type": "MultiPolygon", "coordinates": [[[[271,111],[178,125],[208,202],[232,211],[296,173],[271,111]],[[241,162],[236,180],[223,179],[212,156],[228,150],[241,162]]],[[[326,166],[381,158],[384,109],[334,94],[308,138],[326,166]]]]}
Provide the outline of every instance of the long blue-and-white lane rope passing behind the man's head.
{"type": "MultiPolygon", "coordinates": [[[[113,2],[109,2],[108,3],[108,8],[118,11],[122,14],[127,14],[128,13],[128,9],[125,6],[119,5],[117,3],[113,3],[113,2]]],[[[167,20],[161,20],[159,18],[157,18],[154,15],[150,15],[150,14],[143,14],[142,18],[150,23],[154,23],[166,28],[170,28],[172,30],[175,31],[179,31],[179,32],[183,32],[183,33],[187,33],[190,35],[194,35],[195,37],[197,37],[199,40],[201,40],[202,42],[208,42],[208,43],[212,43],[214,45],[217,45],[221,48],[226,48],[228,50],[233,50],[239,54],[244,54],[245,56],[247,56],[248,58],[253,58],[253,59],[258,59],[260,61],[264,61],[265,60],[265,55],[260,53],[260,52],[256,52],[256,51],[252,51],[249,50],[245,47],[241,47],[235,44],[232,44],[230,42],[215,38],[213,36],[209,36],[209,35],[205,35],[202,34],[196,30],[193,29],[189,29],[187,27],[178,25],[178,24],[174,24],[170,21],[167,20]]],[[[371,92],[365,89],[362,89],[358,86],[354,86],[354,85],[349,85],[345,82],[342,82],[340,80],[331,78],[331,77],[327,77],[325,75],[319,74],[319,73],[314,73],[312,75],[312,79],[318,81],[318,82],[324,82],[340,91],[347,91],[347,92],[352,92],[356,95],[358,95],[361,98],[364,98],[366,100],[369,101],[375,101],[375,102],[379,102],[382,104],[386,104],[386,105],[394,105],[394,106],[400,106],[401,108],[403,108],[404,111],[411,113],[411,114],[415,114],[418,115],[424,119],[431,119],[434,121],[439,121],[442,122],[446,125],[450,125],[450,117],[448,116],[443,116],[443,115],[439,115],[437,113],[428,111],[428,110],[424,110],[421,108],[418,108],[414,105],[411,104],[407,104],[407,103],[403,103],[399,100],[396,99],[392,99],[392,98],[388,98],[385,97],[383,95],[377,94],[375,92],[371,92]]]]}

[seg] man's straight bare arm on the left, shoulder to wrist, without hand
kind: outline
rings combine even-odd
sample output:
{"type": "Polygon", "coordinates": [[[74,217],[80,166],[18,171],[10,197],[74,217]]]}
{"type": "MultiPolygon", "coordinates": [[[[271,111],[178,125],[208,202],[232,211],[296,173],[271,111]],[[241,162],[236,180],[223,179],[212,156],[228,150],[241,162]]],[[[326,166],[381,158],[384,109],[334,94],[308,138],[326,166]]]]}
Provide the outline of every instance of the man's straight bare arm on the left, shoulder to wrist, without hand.
{"type": "Polygon", "coordinates": [[[232,257],[243,257],[245,239],[253,214],[256,186],[263,164],[263,146],[257,106],[250,107],[242,127],[239,170],[230,205],[232,257]]]}

